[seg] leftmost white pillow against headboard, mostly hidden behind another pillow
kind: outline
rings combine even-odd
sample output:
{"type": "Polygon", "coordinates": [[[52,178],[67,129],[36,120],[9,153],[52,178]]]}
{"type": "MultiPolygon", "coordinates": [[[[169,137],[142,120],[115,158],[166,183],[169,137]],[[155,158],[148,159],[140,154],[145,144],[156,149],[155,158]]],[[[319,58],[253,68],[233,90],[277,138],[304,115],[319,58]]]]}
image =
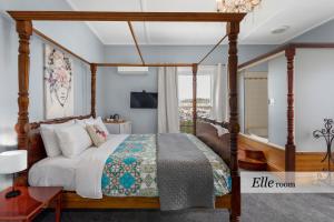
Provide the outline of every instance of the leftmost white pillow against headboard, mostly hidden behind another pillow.
{"type": "Polygon", "coordinates": [[[55,129],[63,128],[73,124],[75,121],[70,120],[65,123],[58,124],[41,124],[40,134],[45,143],[46,152],[49,158],[55,158],[61,154],[60,147],[58,144],[58,139],[55,133],[55,129]]]}

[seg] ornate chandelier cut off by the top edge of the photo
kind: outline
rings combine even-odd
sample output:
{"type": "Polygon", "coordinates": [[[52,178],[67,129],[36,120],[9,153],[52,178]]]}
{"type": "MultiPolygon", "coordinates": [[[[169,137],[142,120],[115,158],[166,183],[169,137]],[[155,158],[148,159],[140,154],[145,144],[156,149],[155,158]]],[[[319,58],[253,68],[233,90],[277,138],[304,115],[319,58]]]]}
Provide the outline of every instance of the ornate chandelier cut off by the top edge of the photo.
{"type": "Polygon", "coordinates": [[[250,12],[262,0],[216,0],[218,12],[250,12]]]}

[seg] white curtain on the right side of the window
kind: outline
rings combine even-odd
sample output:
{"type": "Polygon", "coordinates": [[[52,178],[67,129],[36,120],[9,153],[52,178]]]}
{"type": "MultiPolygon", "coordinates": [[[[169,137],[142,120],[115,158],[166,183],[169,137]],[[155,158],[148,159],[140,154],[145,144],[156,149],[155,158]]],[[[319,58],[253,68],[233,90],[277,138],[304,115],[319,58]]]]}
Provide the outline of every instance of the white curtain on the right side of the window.
{"type": "Polygon", "coordinates": [[[212,119],[219,122],[228,118],[228,78],[225,65],[217,64],[213,73],[213,109],[212,119]]]}

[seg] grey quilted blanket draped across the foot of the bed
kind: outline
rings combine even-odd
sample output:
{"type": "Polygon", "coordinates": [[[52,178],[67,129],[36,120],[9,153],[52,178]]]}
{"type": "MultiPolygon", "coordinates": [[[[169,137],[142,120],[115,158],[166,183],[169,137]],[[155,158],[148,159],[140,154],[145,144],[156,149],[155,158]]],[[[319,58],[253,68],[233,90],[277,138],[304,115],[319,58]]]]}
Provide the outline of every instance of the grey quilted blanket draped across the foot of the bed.
{"type": "Polygon", "coordinates": [[[215,205],[213,169],[186,134],[157,135],[157,183],[160,210],[215,205]]]}

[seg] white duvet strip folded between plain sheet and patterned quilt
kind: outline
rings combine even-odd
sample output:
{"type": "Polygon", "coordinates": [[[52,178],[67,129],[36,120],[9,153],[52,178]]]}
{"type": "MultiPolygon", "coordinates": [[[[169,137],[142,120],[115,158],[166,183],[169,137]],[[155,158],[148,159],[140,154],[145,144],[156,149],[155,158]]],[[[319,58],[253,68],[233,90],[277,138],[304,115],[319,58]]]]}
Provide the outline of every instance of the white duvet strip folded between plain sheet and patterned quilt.
{"type": "Polygon", "coordinates": [[[101,199],[101,176],[105,162],[128,134],[109,135],[99,148],[85,151],[76,169],[76,192],[82,198],[101,199]]]}

